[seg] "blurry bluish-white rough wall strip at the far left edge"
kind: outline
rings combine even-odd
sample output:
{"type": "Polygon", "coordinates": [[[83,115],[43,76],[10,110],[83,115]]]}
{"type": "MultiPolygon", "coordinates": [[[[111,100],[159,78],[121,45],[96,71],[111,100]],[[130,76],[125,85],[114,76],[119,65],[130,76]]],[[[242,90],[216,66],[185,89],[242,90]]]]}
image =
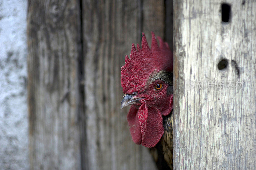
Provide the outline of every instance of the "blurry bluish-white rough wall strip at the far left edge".
{"type": "Polygon", "coordinates": [[[0,0],[0,169],[28,169],[27,0],[0,0]]]}

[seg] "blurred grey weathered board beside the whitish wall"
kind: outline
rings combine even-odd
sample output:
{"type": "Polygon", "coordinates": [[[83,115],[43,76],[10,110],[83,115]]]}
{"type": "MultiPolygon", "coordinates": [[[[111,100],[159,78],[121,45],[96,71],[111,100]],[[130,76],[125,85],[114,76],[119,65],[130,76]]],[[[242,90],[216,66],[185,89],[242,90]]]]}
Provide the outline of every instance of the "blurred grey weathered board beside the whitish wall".
{"type": "Polygon", "coordinates": [[[79,2],[28,1],[31,169],[80,169],[79,2]]]}

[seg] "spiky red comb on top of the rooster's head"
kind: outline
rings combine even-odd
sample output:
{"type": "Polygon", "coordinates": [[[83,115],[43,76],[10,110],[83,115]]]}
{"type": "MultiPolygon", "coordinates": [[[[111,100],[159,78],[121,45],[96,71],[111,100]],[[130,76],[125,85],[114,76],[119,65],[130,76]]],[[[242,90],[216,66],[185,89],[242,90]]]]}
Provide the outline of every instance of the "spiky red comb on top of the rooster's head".
{"type": "Polygon", "coordinates": [[[137,44],[137,50],[132,43],[130,57],[125,56],[125,65],[121,67],[121,85],[125,94],[130,94],[145,85],[146,79],[154,71],[172,71],[172,52],[167,43],[160,37],[158,46],[154,32],[151,32],[151,49],[144,33],[142,33],[141,49],[137,44]],[[139,84],[139,85],[138,85],[139,84]]]}

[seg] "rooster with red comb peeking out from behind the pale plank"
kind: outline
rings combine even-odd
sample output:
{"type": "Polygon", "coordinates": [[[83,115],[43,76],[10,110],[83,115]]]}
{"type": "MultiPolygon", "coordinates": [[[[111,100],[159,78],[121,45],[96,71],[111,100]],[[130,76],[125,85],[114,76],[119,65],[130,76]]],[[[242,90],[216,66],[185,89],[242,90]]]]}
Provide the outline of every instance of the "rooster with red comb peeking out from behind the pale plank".
{"type": "Polygon", "coordinates": [[[141,48],[132,43],[125,56],[121,108],[132,105],[127,120],[133,142],[150,148],[159,169],[173,169],[173,58],[168,44],[157,37],[158,46],[151,35],[151,49],[142,33],[141,48]]]}

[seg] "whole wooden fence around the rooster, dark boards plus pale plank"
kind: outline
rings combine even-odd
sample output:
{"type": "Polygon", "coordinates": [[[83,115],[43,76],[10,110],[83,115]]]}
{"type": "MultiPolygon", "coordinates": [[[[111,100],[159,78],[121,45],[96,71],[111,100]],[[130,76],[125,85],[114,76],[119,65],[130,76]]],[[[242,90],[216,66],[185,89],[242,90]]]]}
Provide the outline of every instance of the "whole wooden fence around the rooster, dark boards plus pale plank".
{"type": "MultiPolygon", "coordinates": [[[[256,168],[256,2],[228,1],[225,23],[221,3],[173,3],[175,169],[256,168]]],[[[120,108],[124,56],[151,30],[172,47],[172,1],[29,0],[31,169],[156,168],[120,108]]]]}

